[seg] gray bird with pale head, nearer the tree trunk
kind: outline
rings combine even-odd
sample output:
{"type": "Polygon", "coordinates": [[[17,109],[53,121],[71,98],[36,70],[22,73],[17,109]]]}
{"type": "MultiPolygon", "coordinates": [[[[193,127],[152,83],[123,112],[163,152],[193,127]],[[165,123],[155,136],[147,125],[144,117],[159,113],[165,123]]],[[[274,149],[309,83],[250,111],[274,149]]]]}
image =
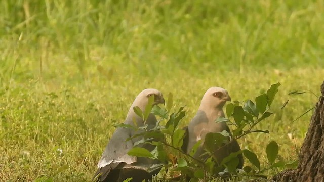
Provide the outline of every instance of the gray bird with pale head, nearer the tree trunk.
{"type": "MultiPolygon", "coordinates": [[[[182,148],[187,147],[186,152],[189,154],[193,146],[201,140],[201,146],[198,147],[194,157],[197,159],[206,159],[201,155],[205,153],[202,144],[204,144],[205,136],[209,132],[217,133],[222,131],[227,131],[230,135],[230,130],[225,122],[216,123],[217,118],[225,117],[223,112],[223,106],[226,101],[230,101],[231,98],[227,93],[227,90],[221,87],[211,87],[209,88],[203,99],[201,100],[199,109],[190,121],[188,126],[188,138],[187,142],[184,141],[182,148]]],[[[186,129],[186,128],[184,128],[186,129]]],[[[223,158],[228,156],[231,152],[237,152],[240,150],[240,146],[237,141],[231,141],[226,147],[217,149],[214,153],[217,162],[221,162],[223,158]]],[[[239,164],[237,168],[243,167],[243,156],[238,155],[239,164]]]]}

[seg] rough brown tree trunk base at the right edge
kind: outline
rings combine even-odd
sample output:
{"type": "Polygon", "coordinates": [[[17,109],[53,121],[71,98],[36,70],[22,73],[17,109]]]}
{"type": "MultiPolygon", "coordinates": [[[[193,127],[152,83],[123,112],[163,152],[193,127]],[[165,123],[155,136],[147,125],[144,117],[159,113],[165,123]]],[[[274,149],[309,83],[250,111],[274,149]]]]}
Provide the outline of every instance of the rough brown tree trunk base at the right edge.
{"type": "Polygon", "coordinates": [[[321,96],[311,117],[296,170],[281,172],[274,181],[324,181],[324,82],[321,96]]]}

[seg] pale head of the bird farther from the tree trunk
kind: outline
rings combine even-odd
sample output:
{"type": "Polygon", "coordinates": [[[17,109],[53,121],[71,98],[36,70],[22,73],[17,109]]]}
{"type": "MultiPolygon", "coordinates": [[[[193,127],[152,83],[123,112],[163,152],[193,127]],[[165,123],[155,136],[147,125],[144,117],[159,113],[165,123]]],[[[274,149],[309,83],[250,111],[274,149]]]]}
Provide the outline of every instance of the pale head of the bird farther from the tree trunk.
{"type": "Polygon", "coordinates": [[[142,90],[137,97],[135,98],[130,111],[133,110],[133,107],[138,106],[142,111],[145,110],[146,105],[148,104],[148,98],[154,95],[154,103],[153,105],[157,104],[165,104],[165,100],[163,98],[162,93],[154,88],[147,88],[142,90]]]}

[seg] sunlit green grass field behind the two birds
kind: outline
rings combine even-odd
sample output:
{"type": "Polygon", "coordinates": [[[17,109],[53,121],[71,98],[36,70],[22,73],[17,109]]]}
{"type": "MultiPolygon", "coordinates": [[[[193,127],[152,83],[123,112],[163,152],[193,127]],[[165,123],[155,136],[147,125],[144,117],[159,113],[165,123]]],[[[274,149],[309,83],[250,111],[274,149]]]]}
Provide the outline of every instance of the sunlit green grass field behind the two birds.
{"type": "Polygon", "coordinates": [[[210,86],[243,101],[279,81],[259,126],[271,133],[239,143],[263,164],[271,140],[296,159],[311,113],[292,121],[317,98],[288,92],[319,95],[323,11],[321,0],[1,1],[0,180],[89,181],[112,125],[148,87],[188,104],[185,125],[210,86]]]}

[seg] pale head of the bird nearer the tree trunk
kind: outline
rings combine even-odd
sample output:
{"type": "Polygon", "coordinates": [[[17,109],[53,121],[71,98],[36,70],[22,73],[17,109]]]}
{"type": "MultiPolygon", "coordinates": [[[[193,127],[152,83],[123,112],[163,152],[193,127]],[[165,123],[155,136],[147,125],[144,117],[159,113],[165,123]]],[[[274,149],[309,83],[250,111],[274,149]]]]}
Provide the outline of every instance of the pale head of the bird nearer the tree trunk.
{"type": "Polygon", "coordinates": [[[201,99],[200,109],[222,109],[226,101],[231,101],[226,89],[221,87],[209,88],[203,99],[201,99]]]}

